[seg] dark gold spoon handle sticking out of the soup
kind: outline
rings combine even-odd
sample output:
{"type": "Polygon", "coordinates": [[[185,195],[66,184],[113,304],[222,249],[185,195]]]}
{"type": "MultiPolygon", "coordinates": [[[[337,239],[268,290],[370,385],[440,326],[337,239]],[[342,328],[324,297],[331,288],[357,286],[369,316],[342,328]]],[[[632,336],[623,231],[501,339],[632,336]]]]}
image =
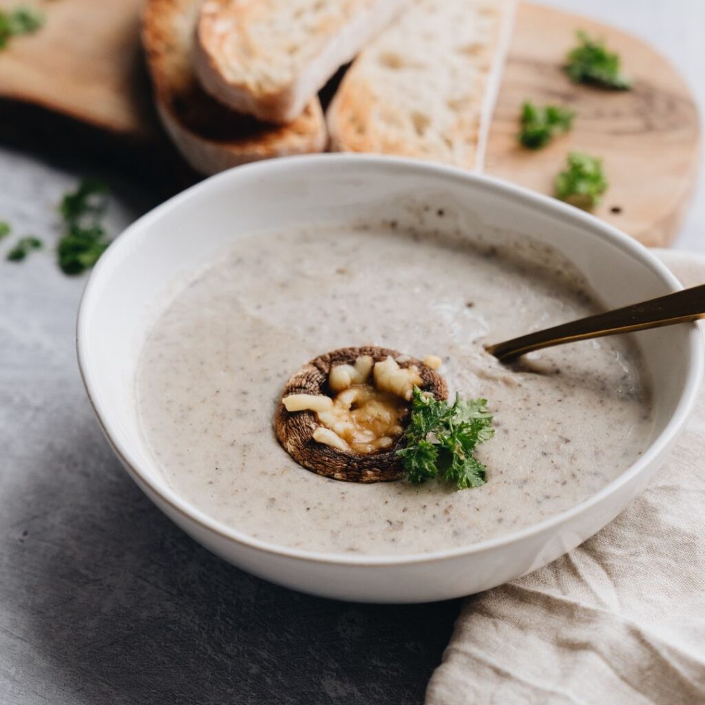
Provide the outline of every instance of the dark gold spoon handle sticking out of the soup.
{"type": "Polygon", "coordinates": [[[673,326],[705,318],[705,284],[660,296],[657,299],[642,301],[543,331],[528,333],[496,345],[486,345],[485,349],[502,362],[509,362],[532,350],[550,348],[551,345],[586,341],[589,338],[615,336],[618,333],[643,331],[647,328],[673,326]]]}

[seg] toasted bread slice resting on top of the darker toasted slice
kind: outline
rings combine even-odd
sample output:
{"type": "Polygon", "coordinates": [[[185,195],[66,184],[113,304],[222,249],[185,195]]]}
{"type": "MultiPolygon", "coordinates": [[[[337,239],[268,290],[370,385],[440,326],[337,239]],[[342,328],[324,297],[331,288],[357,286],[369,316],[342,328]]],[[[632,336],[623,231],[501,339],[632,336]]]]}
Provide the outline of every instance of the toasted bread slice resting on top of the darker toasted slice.
{"type": "Polygon", "coordinates": [[[195,68],[223,104],[288,123],[413,0],[206,0],[195,68]]]}

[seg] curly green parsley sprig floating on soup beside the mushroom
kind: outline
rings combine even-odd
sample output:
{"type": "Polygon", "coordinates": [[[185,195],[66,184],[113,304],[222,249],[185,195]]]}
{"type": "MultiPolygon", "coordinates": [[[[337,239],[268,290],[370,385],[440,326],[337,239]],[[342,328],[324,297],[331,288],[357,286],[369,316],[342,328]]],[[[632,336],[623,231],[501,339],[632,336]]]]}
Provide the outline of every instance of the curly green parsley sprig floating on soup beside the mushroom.
{"type": "Polygon", "coordinates": [[[453,405],[414,388],[405,448],[397,450],[407,477],[419,483],[439,477],[458,489],[485,484],[485,466],[474,457],[475,447],[494,436],[486,399],[461,400],[453,405]]]}

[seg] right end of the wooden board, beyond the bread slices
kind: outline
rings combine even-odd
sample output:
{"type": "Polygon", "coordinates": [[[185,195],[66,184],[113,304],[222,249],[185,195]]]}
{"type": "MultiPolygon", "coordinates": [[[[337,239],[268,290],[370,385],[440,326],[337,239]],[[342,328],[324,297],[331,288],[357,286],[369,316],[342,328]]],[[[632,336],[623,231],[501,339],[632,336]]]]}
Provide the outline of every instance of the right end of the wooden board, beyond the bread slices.
{"type": "Polygon", "coordinates": [[[610,188],[595,214],[646,245],[678,234],[699,163],[697,109],[675,69],[644,42],[613,27],[521,4],[492,123],[485,171],[552,194],[571,149],[603,157],[610,188]],[[561,68],[575,30],[604,37],[623,57],[633,90],[614,92],[568,81],[561,68]],[[572,132],[539,152],[517,144],[520,106],[565,104],[572,132]]]}

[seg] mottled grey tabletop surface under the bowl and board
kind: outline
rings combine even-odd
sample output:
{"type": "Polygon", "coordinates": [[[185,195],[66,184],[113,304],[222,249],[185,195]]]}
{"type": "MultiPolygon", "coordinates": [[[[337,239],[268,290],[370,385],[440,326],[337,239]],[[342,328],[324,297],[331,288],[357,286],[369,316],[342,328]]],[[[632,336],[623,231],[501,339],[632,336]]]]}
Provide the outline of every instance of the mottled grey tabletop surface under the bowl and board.
{"type": "MultiPolygon", "coordinates": [[[[702,0],[548,0],[654,42],[705,102],[702,0]]],[[[93,161],[3,147],[0,220],[56,240],[93,161]]],[[[111,228],[155,202],[114,186],[111,228]]],[[[419,703],[458,603],[380,607],[295,594],[209,555],[154,508],[102,438],[78,378],[85,278],[0,243],[0,703],[419,703]]],[[[705,252],[705,180],[677,247],[705,252]]]]}

